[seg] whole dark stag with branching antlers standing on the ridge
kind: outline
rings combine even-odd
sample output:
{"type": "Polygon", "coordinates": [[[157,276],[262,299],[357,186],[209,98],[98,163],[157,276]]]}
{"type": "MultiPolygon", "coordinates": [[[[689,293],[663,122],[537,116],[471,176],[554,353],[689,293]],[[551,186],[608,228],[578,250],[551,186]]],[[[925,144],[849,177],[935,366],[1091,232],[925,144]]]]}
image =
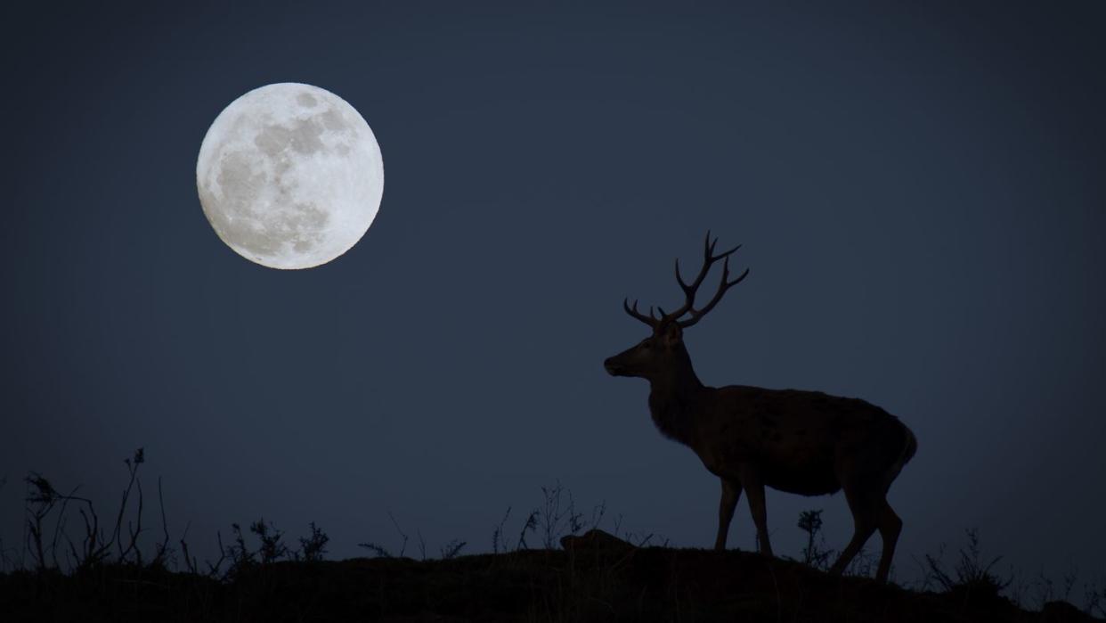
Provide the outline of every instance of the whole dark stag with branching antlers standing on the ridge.
{"type": "Polygon", "coordinates": [[[748,385],[708,387],[691,366],[684,345],[684,330],[714,309],[726,292],[749,276],[745,269],[730,280],[730,256],[740,245],[714,253],[716,238],[707,232],[703,264],[690,283],[680,274],[684,304],[671,313],[638,312],[637,301],[623,309],[644,322],[651,334],[630,349],[607,359],[604,366],[614,376],[639,376],[649,382],[649,412],[666,437],[695,450],[703,466],[722,481],[714,549],[726,549],[733,509],[741,492],[757,526],[760,551],[772,555],[769,543],[764,487],[803,496],[845,491],[853,513],[854,532],[848,546],[831,567],[841,573],[872,534],[879,530],[884,549],[876,580],[887,580],[902,520],[887,502],[887,490],[902,466],[914,456],[914,433],[897,417],[857,398],[822,392],[765,390],[748,385]],[[696,293],[722,261],[718,291],[701,308],[696,293]]]}

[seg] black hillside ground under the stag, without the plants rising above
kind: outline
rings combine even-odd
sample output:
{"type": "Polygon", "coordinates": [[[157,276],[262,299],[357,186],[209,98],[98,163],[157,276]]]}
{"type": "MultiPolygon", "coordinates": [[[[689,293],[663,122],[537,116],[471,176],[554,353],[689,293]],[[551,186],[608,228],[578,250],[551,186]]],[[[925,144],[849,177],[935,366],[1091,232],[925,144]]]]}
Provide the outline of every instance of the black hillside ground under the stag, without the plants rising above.
{"type": "Polygon", "coordinates": [[[3,621],[1094,621],[987,586],[918,593],[759,554],[632,547],[254,564],[217,581],[106,565],[0,575],[3,621]]]}

